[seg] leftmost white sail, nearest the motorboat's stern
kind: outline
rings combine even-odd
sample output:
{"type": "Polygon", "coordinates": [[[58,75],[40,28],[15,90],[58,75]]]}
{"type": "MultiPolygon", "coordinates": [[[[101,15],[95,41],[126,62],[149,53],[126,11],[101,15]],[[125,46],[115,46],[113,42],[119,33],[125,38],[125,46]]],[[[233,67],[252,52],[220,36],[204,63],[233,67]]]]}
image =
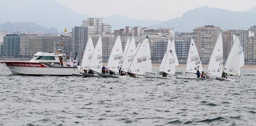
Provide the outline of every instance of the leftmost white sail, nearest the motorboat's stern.
{"type": "Polygon", "coordinates": [[[92,42],[91,36],[89,36],[83,52],[81,69],[89,68],[93,51],[94,51],[93,42],[92,42]]]}

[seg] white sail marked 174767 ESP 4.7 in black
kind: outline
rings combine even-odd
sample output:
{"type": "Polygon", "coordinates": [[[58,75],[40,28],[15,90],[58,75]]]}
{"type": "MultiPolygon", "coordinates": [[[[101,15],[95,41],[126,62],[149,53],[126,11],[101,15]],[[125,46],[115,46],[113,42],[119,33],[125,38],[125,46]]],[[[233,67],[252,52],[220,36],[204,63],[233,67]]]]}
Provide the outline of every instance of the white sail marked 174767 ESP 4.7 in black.
{"type": "Polygon", "coordinates": [[[195,42],[194,42],[193,38],[191,38],[188,59],[187,59],[186,72],[187,73],[196,73],[197,70],[199,70],[201,72],[203,70],[203,68],[202,68],[202,63],[201,63],[197,48],[195,46],[195,42]]]}

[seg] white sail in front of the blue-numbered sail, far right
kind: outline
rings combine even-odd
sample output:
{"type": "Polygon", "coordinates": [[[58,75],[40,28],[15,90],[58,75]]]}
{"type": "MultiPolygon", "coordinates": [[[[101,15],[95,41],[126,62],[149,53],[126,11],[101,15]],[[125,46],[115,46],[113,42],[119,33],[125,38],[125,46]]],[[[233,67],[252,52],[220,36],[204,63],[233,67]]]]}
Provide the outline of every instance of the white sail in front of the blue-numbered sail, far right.
{"type": "Polygon", "coordinates": [[[235,38],[233,46],[228,54],[227,61],[223,72],[231,75],[240,75],[239,71],[239,40],[238,37],[235,38]]]}

